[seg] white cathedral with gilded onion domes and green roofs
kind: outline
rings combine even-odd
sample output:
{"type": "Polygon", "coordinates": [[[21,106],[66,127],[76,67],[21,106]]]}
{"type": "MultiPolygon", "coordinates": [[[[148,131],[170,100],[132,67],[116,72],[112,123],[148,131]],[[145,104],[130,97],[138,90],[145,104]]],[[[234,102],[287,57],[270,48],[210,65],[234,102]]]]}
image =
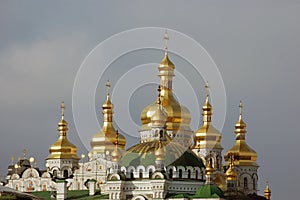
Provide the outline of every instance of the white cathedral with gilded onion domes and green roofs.
{"type": "MultiPolygon", "coordinates": [[[[192,131],[189,110],[173,96],[174,69],[166,46],[158,66],[158,97],[141,112],[138,144],[125,151],[126,138],[113,126],[114,106],[107,82],[103,125],[91,139],[88,161],[84,162],[84,154],[77,155],[76,146],[67,139],[62,103],[58,140],[49,149],[46,169],[32,166],[24,156],[9,166],[6,186],[24,192],[50,191],[57,187],[57,180],[64,179],[68,190],[84,190],[94,181],[96,189],[109,199],[132,200],[227,199],[237,193],[257,194],[257,153],[246,143],[242,102],[235,125],[236,143],[223,154],[222,134],[212,124],[208,84],[202,125],[192,131]]],[[[265,199],[270,195],[267,187],[265,199]]]]}

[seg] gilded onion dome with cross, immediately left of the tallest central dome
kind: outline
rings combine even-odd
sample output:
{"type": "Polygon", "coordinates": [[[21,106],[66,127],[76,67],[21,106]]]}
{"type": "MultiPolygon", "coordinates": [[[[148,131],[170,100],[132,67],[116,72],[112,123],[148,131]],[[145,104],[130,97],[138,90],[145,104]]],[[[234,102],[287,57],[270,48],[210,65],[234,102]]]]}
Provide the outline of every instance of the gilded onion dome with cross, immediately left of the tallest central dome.
{"type": "MultiPolygon", "coordinates": [[[[113,104],[110,101],[110,82],[107,81],[107,97],[103,109],[103,125],[100,132],[96,133],[91,140],[93,152],[98,154],[106,153],[106,150],[112,152],[116,144],[117,131],[113,126],[113,104]]],[[[126,139],[123,135],[118,134],[118,146],[125,149],[126,139]]]]}

